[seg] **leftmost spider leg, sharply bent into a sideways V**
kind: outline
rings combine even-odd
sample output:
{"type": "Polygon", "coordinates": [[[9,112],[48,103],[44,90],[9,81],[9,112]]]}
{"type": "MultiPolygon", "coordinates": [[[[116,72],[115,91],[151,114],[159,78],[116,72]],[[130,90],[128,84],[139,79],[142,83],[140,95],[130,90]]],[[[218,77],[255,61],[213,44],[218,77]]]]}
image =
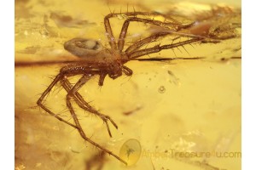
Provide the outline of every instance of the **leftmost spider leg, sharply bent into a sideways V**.
{"type": "Polygon", "coordinates": [[[47,113],[49,113],[49,115],[51,116],[55,116],[55,118],[57,118],[59,121],[61,122],[65,122],[68,125],[74,127],[74,128],[78,128],[76,125],[73,125],[70,122],[67,122],[66,120],[62,119],[60,116],[58,116],[57,114],[53,113],[52,111],[49,111],[49,109],[43,104],[43,100],[45,98],[45,96],[47,94],[49,94],[50,90],[55,87],[55,84],[59,81],[61,81],[63,79],[64,75],[63,74],[59,74],[55,77],[54,81],[50,83],[49,87],[46,88],[46,90],[44,91],[44,93],[41,95],[41,97],[38,99],[37,104],[38,106],[40,106],[44,111],[46,111],[47,113]]]}

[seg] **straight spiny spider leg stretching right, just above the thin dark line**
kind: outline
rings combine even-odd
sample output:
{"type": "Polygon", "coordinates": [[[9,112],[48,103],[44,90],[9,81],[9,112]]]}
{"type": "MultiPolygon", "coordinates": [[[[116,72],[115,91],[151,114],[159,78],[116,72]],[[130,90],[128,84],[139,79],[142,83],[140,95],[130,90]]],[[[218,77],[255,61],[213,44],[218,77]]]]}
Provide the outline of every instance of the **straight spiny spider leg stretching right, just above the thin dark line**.
{"type": "Polygon", "coordinates": [[[205,38],[203,38],[203,37],[192,37],[191,39],[183,41],[183,42],[176,42],[176,43],[166,44],[166,45],[162,45],[162,46],[156,45],[153,48],[145,48],[145,49],[141,49],[141,50],[137,50],[137,51],[128,53],[127,56],[128,56],[129,59],[136,59],[136,58],[141,57],[143,55],[158,53],[163,49],[177,48],[179,46],[183,46],[183,45],[186,45],[186,44],[190,44],[190,43],[194,43],[194,42],[200,42],[203,39],[205,39],[205,38]]]}

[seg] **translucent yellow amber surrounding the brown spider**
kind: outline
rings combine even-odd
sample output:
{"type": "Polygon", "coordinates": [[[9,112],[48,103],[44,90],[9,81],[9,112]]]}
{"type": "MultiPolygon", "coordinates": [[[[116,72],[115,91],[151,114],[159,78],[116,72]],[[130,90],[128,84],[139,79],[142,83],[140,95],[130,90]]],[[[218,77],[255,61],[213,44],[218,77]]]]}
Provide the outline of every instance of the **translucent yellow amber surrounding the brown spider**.
{"type": "MultiPolygon", "coordinates": [[[[109,10],[119,12],[122,8],[126,11],[127,3],[129,11],[135,7],[137,11],[165,12],[173,5],[186,10],[207,8],[205,3],[199,4],[201,1],[194,5],[172,1],[136,2],[17,0],[15,62],[76,59],[63,49],[63,42],[73,37],[89,37],[108,45],[103,17],[109,10]],[[72,17],[72,20],[67,17],[63,21],[61,16],[72,17]]],[[[236,8],[240,3],[226,1],[236,8]]],[[[119,34],[119,21],[123,20],[113,20],[115,35],[119,34]]],[[[138,28],[143,29],[143,24],[133,24],[129,31],[140,31],[138,28]]],[[[241,39],[237,37],[218,44],[186,47],[189,54],[184,50],[182,53],[175,51],[177,57],[204,56],[207,59],[131,61],[126,64],[134,71],[131,78],[124,76],[113,81],[107,77],[104,86],[98,88],[98,77],[95,77],[79,90],[91,105],[111,116],[119,126],[116,130],[110,125],[113,138],[109,138],[101,119],[76,108],[81,125],[91,139],[116,155],[128,139],[137,139],[141,143],[142,156],[131,167],[125,167],[108,155],[91,161],[99,155],[99,150],[84,143],[73,127],[36,106],[40,94],[61,65],[15,66],[15,169],[241,169],[240,157],[180,160],[147,155],[149,152],[164,155],[172,149],[241,152],[241,59],[220,60],[241,57],[240,47],[241,39]],[[127,112],[131,114],[125,115],[127,112]],[[206,166],[206,163],[213,167],[206,166]]],[[[155,56],[175,57],[168,50],[155,56]]],[[[74,77],[72,81],[78,78],[74,77]]],[[[59,86],[56,87],[45,104],[70,120],[65,92],[60,90],[59,86]]]]}

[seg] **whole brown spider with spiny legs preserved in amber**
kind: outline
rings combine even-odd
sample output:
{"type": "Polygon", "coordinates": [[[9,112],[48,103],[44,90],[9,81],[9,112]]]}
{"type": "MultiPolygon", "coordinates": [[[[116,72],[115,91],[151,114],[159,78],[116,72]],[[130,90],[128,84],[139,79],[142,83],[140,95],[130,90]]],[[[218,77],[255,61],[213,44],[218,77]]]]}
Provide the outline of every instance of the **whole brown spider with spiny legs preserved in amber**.
{"type": "MultiPolygon", "coordinates": [[[[218,35],[212,34],[214,30],[209,33],[211,24],[207,23],[197,25],[195,22],[183,25],[177,20],[172,19],[171,17],[167,17],[164,14],[159,13],[146,13],[146,12],[127,12],[127,13],[111,13],[105,16],[104,18],[104,26],[105,31],[108,37],[108,43],[110,48],[104,48],[101,42],[92,39],[86,38],[73,38],[64,43],[64,48],[70,52],[78,56],[80,59],[78,62],[74,62],[72,64],[66,65],[61,68],[59,74],[55,77],[53,82],[49,84],[49,87],[46,88],[44,93],[38,99],[38,106],[44,109],[44,111],[48,112],[49,115],[55,116],[59,121],[67,123],[67,125],[76,128],[80,134],[80,136],[90,144],[96,146],[96,148],[103,150],[111,156],[114,156],[119,161],[126,164],[126,162],[121,159],[119,156],[113,154],[112,151],[105,149],[100,144],[92,141],[88,138],[84,129],[81,127],[79,123],[79,119],[76,116],[76,113],[73,109],[73,105],[71,104],[71,100],[73,99],[80,108],[84,111],[89,111],[96,116],[99,116],[102,121],[106,124],[108,129],[108,134],[112,137],[112,134],[109,129],[108,122],[113,124],[113,127],[118,128],[117,124],[113,122],[110,116],[104,115],[99,111],[96,111],[88,102],[86,102],[81,94],[79,94],[79,88],[83,87],[86,82],[90,80],[91,77],[99,76],[98,85],[102,86],[105,77],[110,77],[112,79],[116,79],[125,74],[128,77],[131,77],[132,70],[125,66],[125,63],[130,60],[140,58],[144,55],[158,53],[164,49],[173,49],[178,47],[183,47],[186,44],[191,44],[195,42],[218,42],[220,39],[218,35]],[[160,21],[152,19],[152,16],[160,16],[168,19],[169,21],[160,21]],[[113,37],[113,31],[110,25],[110,19],[114,17],[125,16],[125,21],[121,28],[121,32],[119,33],[119,38],[116,39],[113,37]],[[151,18],[150,18],[151,17],[151,18]],[[131,22],[140,22],[151,26],[159,26],[163,28],[161,31],[157,31],[145,37],[143,39],[137,40],[133,42],[128,48],[125,48],[125,37],[127,35],[127,30],[131,22]],[[197,30],[196,30],[197,29],[197,30]],[[196,34],[186,33],[188,30],[197,31],[196,34]],[[199,34],[198,31],[203,31],[203,33],[199,34]],[[172,43],[166,45],[154,45],[154,47],[147,48],[148,43],[157,42],[161,38],[164,37],[173,37],[172,43]],[[177,41],[181,39],[181,37],[185,37],[186,40],[177,41]],[[210,41],[209,41],[210,40],[210,41]],[[125,48],[125,49],[124,49],[125,48]],[[73,77],[80,75],[79,81],[72,85],[71,82],[67,79],[68,77],[73,77]],[[67,91],[66,104],[67,108],[73,117],[73,122],[67,122],[62,119],[61,116],[58,116],[43,104],[44,98],[49,94],[52,88],[55,87],[57,82],[61,82],[61,86],[67,91]]],[[[224,29],[216,29],[219,31],[225,31],[224,29]]],[[[225,37],[227,38],[227,37],[225,37]]]]}

